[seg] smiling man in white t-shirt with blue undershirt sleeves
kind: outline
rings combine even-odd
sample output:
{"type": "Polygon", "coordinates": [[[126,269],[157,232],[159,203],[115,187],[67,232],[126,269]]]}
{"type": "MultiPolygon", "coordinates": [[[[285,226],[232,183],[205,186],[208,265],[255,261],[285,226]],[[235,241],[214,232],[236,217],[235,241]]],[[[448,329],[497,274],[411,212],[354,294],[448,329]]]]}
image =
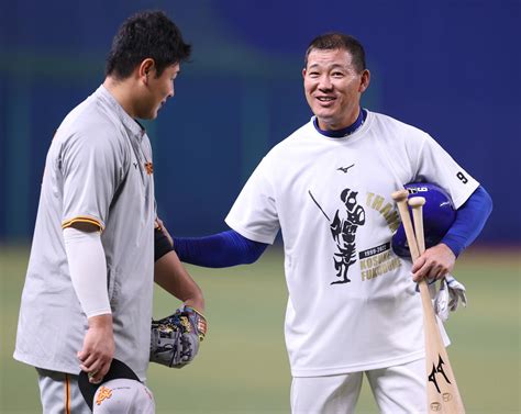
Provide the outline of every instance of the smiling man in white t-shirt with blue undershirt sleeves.
{"type": "Polygon", "coordinates": [[[313,40],[302,75],[314,116],[257,166],[225,220],[232,231],[174,238],[174,248],[200,266],[253,262],[280,230],[292,412],[352,413],[364,372],[383,413],[424,412],[415,281],[453,269],[490,198],[426,133],[361,108],[370,76],[356,38],[313,40]],[[458,210],[412,265],[390,247],[400,224],[391,193],[414,181],[437,183],[458,210]]]}

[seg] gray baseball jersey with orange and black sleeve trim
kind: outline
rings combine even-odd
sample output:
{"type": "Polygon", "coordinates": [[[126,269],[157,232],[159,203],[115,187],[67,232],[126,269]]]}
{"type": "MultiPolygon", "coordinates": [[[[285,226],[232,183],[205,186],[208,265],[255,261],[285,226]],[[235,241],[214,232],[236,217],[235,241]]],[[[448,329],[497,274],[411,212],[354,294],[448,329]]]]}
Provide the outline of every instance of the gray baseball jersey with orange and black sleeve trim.
{"type": "Polygon", "coordinates": [[[70,280],[63,228],[101,230],[115,358],[140,379],[148,365],[154,180],[145,131],[101,86],[64,120],[47,154],[14,358],[77,374],[87,317],[70,280]]]}

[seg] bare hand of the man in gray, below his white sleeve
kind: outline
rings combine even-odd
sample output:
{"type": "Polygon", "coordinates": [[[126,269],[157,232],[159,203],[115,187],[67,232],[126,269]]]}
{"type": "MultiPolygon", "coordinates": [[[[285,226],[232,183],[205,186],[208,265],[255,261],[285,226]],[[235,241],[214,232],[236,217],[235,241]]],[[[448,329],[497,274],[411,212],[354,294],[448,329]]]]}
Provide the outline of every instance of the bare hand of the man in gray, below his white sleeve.
{"type": "Polygon", "coordinates": [[[114,334],[112,315],[89,317],[89,329],[84,338],[84,348],[78,353],[82,371],[89,376],[89,381],[99,383],[107,374],[114,357],[114,334]]]}

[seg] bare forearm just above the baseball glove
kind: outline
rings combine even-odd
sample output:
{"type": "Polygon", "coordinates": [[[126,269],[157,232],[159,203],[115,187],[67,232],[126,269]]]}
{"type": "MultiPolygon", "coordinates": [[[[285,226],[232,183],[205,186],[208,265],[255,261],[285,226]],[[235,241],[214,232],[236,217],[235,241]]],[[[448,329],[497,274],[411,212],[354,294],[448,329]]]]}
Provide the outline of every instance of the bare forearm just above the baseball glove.
{"type": "Polygon", "coordinates": [[[154,281],[185,304],[204,311],[204,298],[174,250],[156,260],[154,281]]]}

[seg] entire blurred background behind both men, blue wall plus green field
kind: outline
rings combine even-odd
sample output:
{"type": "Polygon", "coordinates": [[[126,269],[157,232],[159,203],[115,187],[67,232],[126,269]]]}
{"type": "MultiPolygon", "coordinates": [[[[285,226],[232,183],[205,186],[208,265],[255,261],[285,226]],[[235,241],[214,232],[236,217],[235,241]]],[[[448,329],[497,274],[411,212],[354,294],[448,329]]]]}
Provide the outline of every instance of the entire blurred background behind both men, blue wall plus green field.
{"type": "MultiPolygon", "coordinates": [[[[301,79],[309,42],[328,31],[362,41],[372,71],[364,107],[429,132],[494,199],[458,261],[456,277],[483,301],[470,295],[448,326],[458,337],[451,353],[473,412],[520,412],[521,1],[2,0],[0,413],[40,410],[34,372],[11,355],[48,145],[103,81],[121,22],[145,9],[166,11],[193,47],[176,97],[146,123],[158,213],[179,236],[226,230],[257,163],[311,116],[301,79]],[[492,374],[500,393],[487,387],[492,374]]],[[[288,412],[281,260],[276,246],[253,267],[189,268],[209,300],[211,335],[193,367],[151,369],[159,412],[288,412]]],[[[158,313],[175,307],[156,298],[158,313]]],[[[375,412],[369,400],[359,412],[375,412]]]]}

